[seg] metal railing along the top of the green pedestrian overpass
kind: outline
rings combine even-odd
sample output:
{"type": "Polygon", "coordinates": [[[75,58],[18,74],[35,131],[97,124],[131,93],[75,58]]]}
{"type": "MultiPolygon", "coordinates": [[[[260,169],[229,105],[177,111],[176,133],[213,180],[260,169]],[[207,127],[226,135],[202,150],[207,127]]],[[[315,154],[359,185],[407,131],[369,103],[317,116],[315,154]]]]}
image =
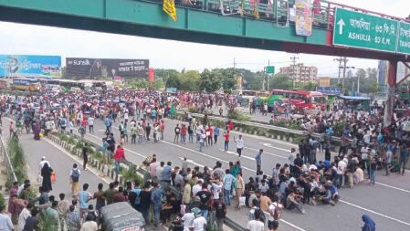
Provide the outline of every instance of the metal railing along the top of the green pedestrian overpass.
{"type": "MultiPolygon", "coordinates": [[[[162,4],[163,0],[139,0],[162,4]]],[[[174,0],[175,5],[201,11],[213,12],[222,16],[242,16],[258,20],[272,21],[278,26],[295,24],[295,0],[174,0]]],[[[369,15],[388,17],[395,20],[409,21],[396,16],[388,16],[363,8],[333,3],[325,0],[312,1],[312,26],[332,30],[335,8],[345,8],[369,15]]]]}

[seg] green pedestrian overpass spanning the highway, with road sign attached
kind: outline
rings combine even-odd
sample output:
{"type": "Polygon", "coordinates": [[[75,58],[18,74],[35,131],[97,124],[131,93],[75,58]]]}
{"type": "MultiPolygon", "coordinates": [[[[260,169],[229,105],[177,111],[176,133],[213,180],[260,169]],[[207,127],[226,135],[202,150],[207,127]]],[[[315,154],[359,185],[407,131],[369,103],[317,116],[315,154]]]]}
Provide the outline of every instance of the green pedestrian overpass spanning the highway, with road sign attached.
{"type": "Polygon", "coordinates": [[[312,5],[307,0],[271,0],[270,4],[268,0],[0,0],[0,20],[222,46],[389,60],[389,111],[393,111],[397,62],[410,62],[409,21],[322,0],[314,0],[312,5]],[[176,20],[163,11],[163,1],[174,3],[176,20]],[[311,22],[307,26],[310,34],[296,33],[295,27],[303,27],[306,22],[311,22]]]}

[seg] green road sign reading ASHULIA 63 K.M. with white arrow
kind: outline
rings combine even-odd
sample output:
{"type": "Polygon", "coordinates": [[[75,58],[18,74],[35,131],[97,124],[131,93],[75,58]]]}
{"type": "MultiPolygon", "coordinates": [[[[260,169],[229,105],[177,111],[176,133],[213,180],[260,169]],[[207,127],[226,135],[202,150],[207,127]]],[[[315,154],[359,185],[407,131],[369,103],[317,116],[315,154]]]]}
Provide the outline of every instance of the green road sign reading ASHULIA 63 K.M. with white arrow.
{"type": "Polygon", "coordinates": [[[333,45],[410,54],[410,24],[336,8],[333,45]]]}

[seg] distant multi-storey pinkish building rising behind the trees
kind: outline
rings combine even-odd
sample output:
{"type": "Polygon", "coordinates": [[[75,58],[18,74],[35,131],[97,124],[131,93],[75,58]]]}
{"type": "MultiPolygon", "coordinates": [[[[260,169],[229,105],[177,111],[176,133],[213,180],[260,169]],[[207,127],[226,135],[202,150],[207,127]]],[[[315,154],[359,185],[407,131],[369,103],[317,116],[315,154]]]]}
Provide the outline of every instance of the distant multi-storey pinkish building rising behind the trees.
{"type": "Polygon", "coordinates": [[[288,75],[290,78],[294,78],[295,82],[318,82],[318,68],[305,67],[303,63],[298,63],[296,65],[290,65],[289,67],[280,68],[280,74],[288,75]]]}

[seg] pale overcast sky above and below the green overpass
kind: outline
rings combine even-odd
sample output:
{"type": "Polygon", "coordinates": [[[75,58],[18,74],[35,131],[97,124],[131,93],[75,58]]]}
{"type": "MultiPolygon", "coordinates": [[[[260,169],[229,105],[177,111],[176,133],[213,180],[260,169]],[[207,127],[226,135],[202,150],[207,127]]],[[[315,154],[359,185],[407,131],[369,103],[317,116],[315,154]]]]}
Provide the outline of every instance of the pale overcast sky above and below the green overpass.
{"type": "MultiPolygon", "coordinates": [[[[333,0],[391,16],[410,15],[410,0],[333,0]]],[[[150,59],[152,68],[181,70],[237,68],[258,71],[270,65],[277,69],[289,66],[295,54],[259,49],[224,47],[148,37],[73,30],[50,26],[32,26],[0,22],[0,54],[58,55],[63,58],[142,58],[150,59]]],[[[319,76],[337,77],[335,57],[296,54],[297,62],[319,68],[319,76]]],[[[377,68],[377,61],[348,58],[347,66],[377,68]]]]}

